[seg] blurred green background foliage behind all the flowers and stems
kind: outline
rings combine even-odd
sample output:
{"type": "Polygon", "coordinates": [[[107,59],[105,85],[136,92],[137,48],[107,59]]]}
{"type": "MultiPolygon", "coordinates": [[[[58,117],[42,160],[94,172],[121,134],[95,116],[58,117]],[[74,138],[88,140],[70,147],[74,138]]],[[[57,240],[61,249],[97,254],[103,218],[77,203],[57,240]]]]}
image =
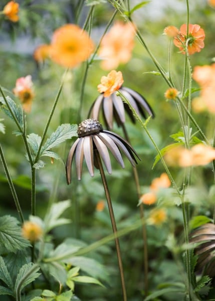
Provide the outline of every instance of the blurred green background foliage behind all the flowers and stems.
{"type": "MultiPolygon", "coordinates": [[[[1,8],[7,0],[1,1],[1,8]]],[[[8,91],[15,87],[16,79],[22,76],[32,75],[36,97],[33,102],[32,112],[27,116],[28,133],[42,134],[55,96],[57,94],[64,69],[51,61],[45,61],[38,65],[33,53],[37,46],[50,43],[52,33],[58,27],[66,23],[75,23],[83,26],[90,4],[93,1],[62,0],[62,1],[18,1],[20,4],[20,21],[12,23],[3,16],[0,19],[0,70],[1,85],[8,91]]],[[[96,2],[95,2],[96,3],[96,2]]],[[[99,1],[98,1],[99,3],[99,1]]],[[[138,1],[132,1],[131,6],[138,1]]],[[[93,16],[92,38],[98,43],[103,31],[112,16],[114,10],[105,1],[95,5],[93,16]]],[[[215,10],[208,6],[206,1],[190,1],[190,23],[199,24],[205,31],[205,48],[191,57],[192,66],[210,64],[214,56],[214,27],[215,10]]],[[[184,1],[151,1],[148,5],[136,11],[133,19],[141,31],[152,53],[162,66],[167,70],[168,66],[168,41],[163,35],[163,29],[168,25],[180,27],[186,22],[184,1]],[[157,7],[158,6],[158,7],[157,7]]],[[[122,20],[116,15],[115,20],[122,20]]],[[[61,123],[77,123],[77,112],[80,102],[81,84],[85,64],[72,69],[67,73],[60,101],[53,116],[48,133],[54,131],[61,123]]],[[[155,76],[147,72],[157,71],[148,57],[144,48],[135,40],[132,59],[126,65],[120,65],[117,70],[122,71],[124,85],[142,94],[155,112],[155,118],[150,120],[148,128],[160,148],[172,142],[171,134],[180,130],[180,122],[176,109],[172,102],[166,102],[164,92],[167,85],[161,76],[155,76]]],[[[171,59],[172,76],[178,86],[182,85],[183,56],[172,47],[171,59]]],[[[94,61],[90,66],[84,91],[84,103],[82,119],[86,119],[88,110],[98,96],[97,85],[102,75],[107,72],[100,67],[100,61],[94,61]]],[[[193,86],[197,84],[193,82],[193,86]]],[[[196,93],[197,95],[197,93],[196,93]]],[[[195,96],[195,95],[193,95],[195,96]]],[[[200,127],[211,138],[210,124],[214,117],[207,113],[195,114],[200,127]]],[[[28,218],[30,212],[31,181],[29,164],[25,158],[25,148],[20,136],[13,134],[14,124],[1,112],[0,118],[4,118],[6,134],[1,133],[1,142],[9,165],[11,175],[17,189],[21,207],[28,218]]],[[[153,178],[159,177],[164,171],[161,163],[152,170],[156,151],[139,124],[132,124],[127,118],[126,127],[129,131],[132,146],[141,158],[137,170],[140,177],[142,192],[148,187],[153,178]]],[[[114,131],[120,133],[121,129],[114,125],[114,131]]],[[[72,141],[64,143],[57,149],[57,153],[66,160],[72,141]]],[[[121,170],[113,160],[113,174],[107,176],[118,228],[132,225],[139,219],[137,207],[138,197],[133,181],[130,164],[125,162],[125,170],[121,170]]],[[[172,169],[176,181],[180,183],[181,173],[178,169],[172,169]]],[[[208,188],[213,183],[211,170],[208,168],[196,169],[192,179],[193,213],[212,216],[212,197],[208,196],[208,188]],[[201,191],[201,194],[199,194],[201,191]]],[[[101,212],[96,211],[96,204],[105,199],[102,183],[98,172],[94,178],[90,178],[87,169],[83,169],[83,179],[76,180],[74,175],[72,184],[67,186],[65,168],[60,162],[51,164],[49,158],[46,166],[37,173],[37,215],[45,215],[49,198],[56,201],[71,199],[72,206],[67,210],[66,217],[72,218],[73,223],[61,226],[54,230],[56,243],[66,237],[79,238],[87,243],[92,243],[111,233],[111,224],[107,206],[101,212]]],[[[8,186],[4,170],[0,165],[0,210],[1,215],[11,214],[17,216],[16,207],[8,186]]],[[[146,214],[151,208],[146,208],[146,214]]],[[[159,228],[147,226],[149,244],[149,283],[150,289],[162,282],[172,280],[180,281],[178,266],[172,260],[171,250],[165,245],[169,233],[178,235],[178,241],[182,239],[182,214],[177,206],[169,207],[168,223],[159,228]],[[179,279],[176,279],[178,277],[179,279]],[[162,280],[161,280],[162,279],[162,280]]],[[[122,256],[125,269],[125,282],[127,285],[128,299],[140,300],[143,289],[143,246],[141,229],[131,232],[120,239],[122,256]]],[[[111,275],[109,283],[105,283],[111,289],[107,292],[102,287],[89,285],[76,286],[76,294],[83,300],[119,300],[121,295],[120,283],[118,283],[117,259],[114,251],[114,242],[100,247],[90,253],[107,268],[111,275]]],[[[165,296],[162,300],[172,300],[172,296],[165,296]]],[[[174,300],[181,301],[181,295],[174,296],[174,300]]],[[[158,300],[158,299],[157,299],[158,300]]],[[[160,299],[159,299],[160,300],[160,299]]]]}

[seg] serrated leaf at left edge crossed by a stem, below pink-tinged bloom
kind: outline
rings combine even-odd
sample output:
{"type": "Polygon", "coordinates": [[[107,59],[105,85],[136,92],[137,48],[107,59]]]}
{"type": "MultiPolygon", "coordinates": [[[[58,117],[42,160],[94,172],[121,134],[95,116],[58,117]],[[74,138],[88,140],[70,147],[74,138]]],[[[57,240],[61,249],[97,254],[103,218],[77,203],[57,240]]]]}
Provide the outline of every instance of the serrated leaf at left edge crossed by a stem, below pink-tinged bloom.
{"type": "MultiPolygon", "coordinates": [[[[6,99],[8,100],[11,110],[12,110],[13,114],[15,115],[18,123],[20,124],[20,127],[23,129],[24,124],[23,124],[23,108],[22,108],[22,106],[17,105],[16,102],[10,96],[6,96],[6,99]]],[[[0,103],[2,103],[2,105],[0,107],[3,109],[5,114],[8,115],[12,120],[14,120],[10,110],[8,109],[5,99],[3,97],[0,97],[0,103]]]]}

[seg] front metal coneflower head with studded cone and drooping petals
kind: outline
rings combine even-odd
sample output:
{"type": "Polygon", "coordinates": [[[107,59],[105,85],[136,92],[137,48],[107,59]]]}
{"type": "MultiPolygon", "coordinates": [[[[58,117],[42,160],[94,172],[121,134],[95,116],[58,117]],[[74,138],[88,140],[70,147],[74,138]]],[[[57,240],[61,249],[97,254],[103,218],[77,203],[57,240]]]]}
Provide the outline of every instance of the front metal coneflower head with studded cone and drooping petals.
{"type": "Polygon", "coordinates": [[[77,133],[78,138],[70,148],[66,162],[66,177],[68,184],[71,183],[71,169],[74,157],[78,180],[81,180],[84,158],[91,177],[94,176],[94,166],[98,168],[96,152],[98,152],[103,160],[109,174],[111,174],[112,168],[108,149],[122,168],[124,168],[124,162],[120,150],[125,154],[132,166],[137,164],[135,156],[138,159],[139,157],[133,147],[118,134],[103,130],[103,127],[98,120],[86,119],[82,121],[78,126],[77,133]]]}

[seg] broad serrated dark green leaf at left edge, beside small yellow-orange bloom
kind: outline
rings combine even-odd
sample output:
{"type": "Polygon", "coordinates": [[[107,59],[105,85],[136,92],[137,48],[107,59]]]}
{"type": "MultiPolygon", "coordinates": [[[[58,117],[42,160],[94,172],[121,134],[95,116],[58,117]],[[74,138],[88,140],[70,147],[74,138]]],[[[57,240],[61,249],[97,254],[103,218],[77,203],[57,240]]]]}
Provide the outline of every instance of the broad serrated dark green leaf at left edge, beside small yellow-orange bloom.
{"type": "Polygon", "coordinates": [[[19,221],[10,215],[0,217],[0,253],[16,252],[30,246],[30,243],[21,234],[19,221]]]}

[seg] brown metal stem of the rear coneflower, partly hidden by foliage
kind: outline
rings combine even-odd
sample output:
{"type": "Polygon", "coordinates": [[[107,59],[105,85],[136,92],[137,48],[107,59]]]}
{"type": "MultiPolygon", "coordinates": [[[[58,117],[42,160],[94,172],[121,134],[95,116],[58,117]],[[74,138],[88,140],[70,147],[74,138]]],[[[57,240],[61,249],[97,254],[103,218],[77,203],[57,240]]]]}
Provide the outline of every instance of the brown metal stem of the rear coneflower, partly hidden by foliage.
{"type": "MultiPolygon", "coordinates": [[[[128,132],[126,130],[124,123],[122,124],[122,129],[126,140],[130,143],[128,132]]],[[[133,174],[134,174],[134,181],[137,190],[137,196],[138,199],[140,199],[141,192],[140,192],[139,176],[136,167],[133,167],[133,174]]],[[[139,211],[140,211],[140,218],[141,220],[143,220],[145,216],[143,204],[140,204],[139,211]]],[[[146,231],[145,224],[142,225],[142,235],[143,235],[143,250],[144,250],[144,290],[145,290],[145,296],[147,296],[148,295],[148,243],[147,243],[147,231],[146,231]]]]}

